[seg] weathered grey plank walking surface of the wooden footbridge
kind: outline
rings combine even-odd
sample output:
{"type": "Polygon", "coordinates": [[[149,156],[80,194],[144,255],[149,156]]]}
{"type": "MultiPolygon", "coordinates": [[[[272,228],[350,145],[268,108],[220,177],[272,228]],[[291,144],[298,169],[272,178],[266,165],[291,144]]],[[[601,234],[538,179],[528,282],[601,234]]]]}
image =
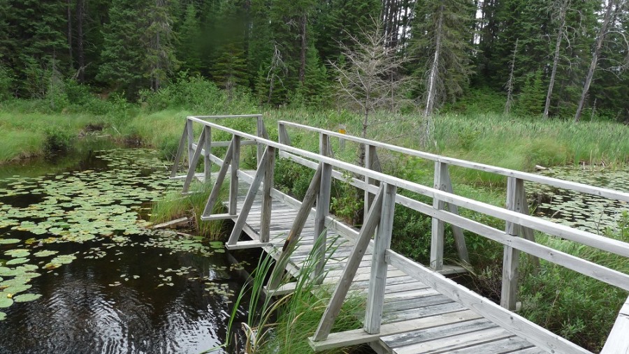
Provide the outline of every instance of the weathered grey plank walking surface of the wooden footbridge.
{"type": "MultiPolygon", "coordinates": [[[[253,179],[255,171],[243,171],[253,179]]],[[[242,176],[242,175],[241,175],[242,176]]],[[[201,175],[199,179],[203,179],[201,175]]],[[[243,207],[243,202],[250,184],[240,179],[238,193],[237,214],[243,207]]],[[[253,239],[259,241],[262,198],[258,193],[243,231],[253,239]]],[[[263,249],[275,258],[280,256],[282,246],[286,240],[298,210],[285,202],[273,199],[270,222],[270,242],[273,246],[263,249]]],[[[305,262],[314,242],[315,218],[314,209],[306,221],[295,251],[291,254],[287,271],[297,275],[305,262]]],[[[326,278],[324,284],[335,284],[347,261],[353,243],[338,233],[328,230],[328,244],[335,242],[335,252],[331,260],[326,263],[326,278]]],[[[371,270],[371,252],[368,251],[361,261],[351,289],[354,293],[366,295],[371,270]]],[[[455,267],[447,267],[442,273],[456,272],[455,267]]],[[[333,290],[333,289],[331,289],[333,290]]],[[[282,291],[282,290],[280,290],[282,291]]],[[[454,302],[437,290],[417,281],[402,270],[389,265],[384,295],[384,311],[382,325],[397,324],[412,325],[416,328],[412,332],[382,337],[371,344],[379,353],[516,353],[533,354],[546,353],[535,348],[525,339],[504,330],[500,326],[486,320],[470,309],[465,309],[458,302],[454,302]]],[[[380,334],[382,335],[382,334],[380,334]]],[[[356,337],[363,337],[363,330],[356,331],[356,337]]],[[[330,334],[333,339],[334,334],[330,334]]],[[[347,333],[343,334],[343,341],[347,341],[347,333]]]]}

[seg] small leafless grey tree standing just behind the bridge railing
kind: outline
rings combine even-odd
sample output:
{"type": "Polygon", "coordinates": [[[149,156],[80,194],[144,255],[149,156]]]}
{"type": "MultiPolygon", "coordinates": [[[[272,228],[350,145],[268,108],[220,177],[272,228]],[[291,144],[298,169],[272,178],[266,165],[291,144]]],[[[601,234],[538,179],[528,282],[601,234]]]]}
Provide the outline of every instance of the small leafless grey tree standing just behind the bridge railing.
{"type": "MultiPolygon", "coordinates": [[[[366,138],[370,115],[375,110],[395,109],[400,103],[409,102],[401,89],[408,78],[398,75],[407,59],[396,55],[398,47],[386,45],[388,38],[382,22],[374,21],[372,31],[361,29],[360,36],[349,36],[350,45],[340,43],[345,64],[330,65],[337,75],[341,101],[358,108],[363,115],[361,136],[366,138]]],[[[364,162],[365,148],[361,145],[359,164],[364,162]]]]}

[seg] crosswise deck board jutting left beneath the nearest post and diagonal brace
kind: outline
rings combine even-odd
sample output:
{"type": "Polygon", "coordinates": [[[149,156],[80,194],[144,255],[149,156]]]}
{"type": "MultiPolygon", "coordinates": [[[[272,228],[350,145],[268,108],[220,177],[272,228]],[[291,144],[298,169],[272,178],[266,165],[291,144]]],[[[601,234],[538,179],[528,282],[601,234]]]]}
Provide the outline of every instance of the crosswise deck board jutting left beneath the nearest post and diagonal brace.
{"type": "Polygon", "coordinates": [[[356,344],[369,343],[370,341],[377,341],[380,337],[386,337],[393,334],[419,330],[422,328],[438,327],[448,323],[458,323],[480,317],[481,316],[473,311],[458,311],[449,314],[384,324],[380,327],[380,332],[377,334],[368,334],[364,330],[350,330],[332,333],[325,341],[312,341],[312,339],[309,339],[309,342],[310,346],[315,351],[324,351],[326,349],[340,348],[342,346],[354,346],[356,344]]]}

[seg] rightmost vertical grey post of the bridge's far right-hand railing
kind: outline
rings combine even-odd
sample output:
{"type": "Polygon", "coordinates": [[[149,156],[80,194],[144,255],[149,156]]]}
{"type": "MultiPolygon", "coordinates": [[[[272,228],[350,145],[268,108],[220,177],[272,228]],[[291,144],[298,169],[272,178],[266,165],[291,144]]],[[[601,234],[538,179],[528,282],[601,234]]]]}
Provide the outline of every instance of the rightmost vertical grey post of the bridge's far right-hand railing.
{"type": "MultiPolygon", "coordinates": [[[[507,177],[507,209],[514,212],[522,212],[528,205],[524,195],[524,181],[516,177],[507,177]]],[[[516,223],[506,222],[507,235],[518,237],[521,227],[516,223]]],[[[520,251],[512,246],[505,246],[503,254],[503,288],[500,295],[500,306],[505,309],[515,310],[518,290],[518,266],[520,263],[520,251]]]]}

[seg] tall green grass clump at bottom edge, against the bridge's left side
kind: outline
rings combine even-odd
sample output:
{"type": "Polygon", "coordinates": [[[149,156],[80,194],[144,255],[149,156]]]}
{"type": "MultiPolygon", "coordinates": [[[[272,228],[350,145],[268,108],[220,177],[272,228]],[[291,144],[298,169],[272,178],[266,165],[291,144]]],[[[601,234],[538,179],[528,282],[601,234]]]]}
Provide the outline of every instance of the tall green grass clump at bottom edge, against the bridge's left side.
{"type": "MultiPolygon", "coordinates": [[[[312,249],[317,249],[315,242],[312,249]]],[[[326,247],[326,262],[333,258],[338,248],[338,239],[333,239],[326,247]]],[[[289,250],[291,253],[294,250],[289,250]]],[[[311,251],[300,272],[295,279],[285,276],[281,284],[295,281],[293,293],[274,297],[273,293],[263,293],[263,286],[267,279],[277,276],[274,267],[280,269],[284,264],[274,264],[271,256],[262,256],[258,267],[238,295],[231,318],[238,311],[240,304],[249,304],[247,323],[243,323],[245,334],[242,351],[236,353],[309,353],[312,351],[308,344],[308,337],[314,334],[319,320],[323,315],[331,288],[317,286],[313,274],[317,267],[317,258],[311,251]]],[[[359,295],[351,295],[343,304],[340,316],[335,321],[333,331],[351,330],[361,327],[359,316],[363,314],[365,299],[359,295]]],[[[235,330],[234,323],[230,323],[230,330],[235,330]]],[[[231,337],[228,337],[231,339],[231,337]]],[[[232,344],[233,345],[233,344],[232,344]]],[[[347,348],[325,353],[347,353],[347,348]]],[[[350,351],[351,352],[351,351],[350,351]]]]}

